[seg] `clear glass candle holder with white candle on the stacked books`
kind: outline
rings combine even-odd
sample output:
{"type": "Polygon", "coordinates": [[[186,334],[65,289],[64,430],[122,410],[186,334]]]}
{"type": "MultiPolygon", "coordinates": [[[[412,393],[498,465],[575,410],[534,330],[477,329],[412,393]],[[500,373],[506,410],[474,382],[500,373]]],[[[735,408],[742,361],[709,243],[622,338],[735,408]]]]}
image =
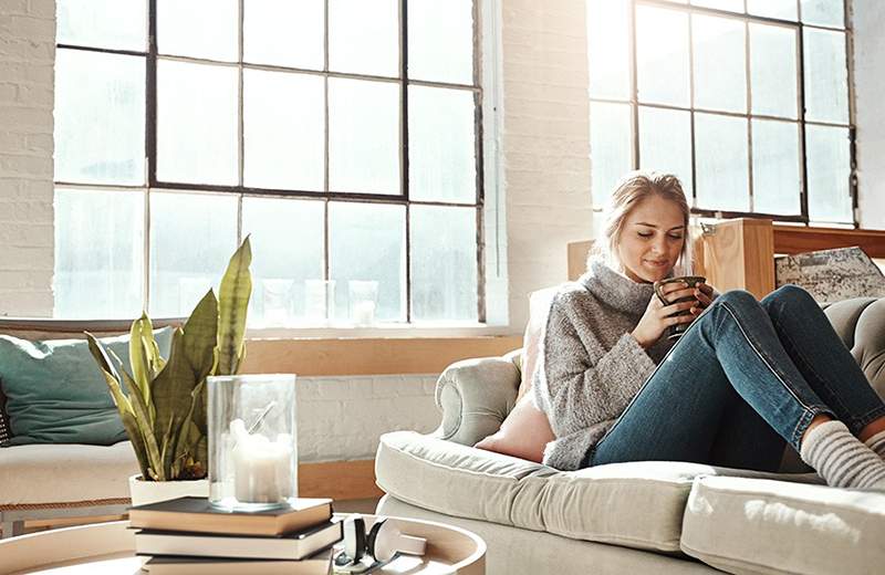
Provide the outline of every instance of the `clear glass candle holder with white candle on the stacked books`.
{"type": "Polygon", "coordinates": [[[298,496],[295,376],[207,378],[209,501],[232,511],[282,508],[298,496]]]}

